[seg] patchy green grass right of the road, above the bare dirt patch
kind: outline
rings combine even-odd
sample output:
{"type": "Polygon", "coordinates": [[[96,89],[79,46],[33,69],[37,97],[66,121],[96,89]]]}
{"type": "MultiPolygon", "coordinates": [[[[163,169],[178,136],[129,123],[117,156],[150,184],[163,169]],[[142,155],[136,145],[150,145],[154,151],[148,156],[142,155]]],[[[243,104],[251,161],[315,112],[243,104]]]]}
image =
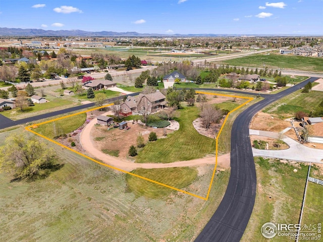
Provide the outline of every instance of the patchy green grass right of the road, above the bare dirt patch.
{"type": "Polygon", "coordinates": [[[309,113],[317,107],[322,98],[320,91],[302,93],[298,90],[267,106],[263,112],[277,114],[278,117],[285,119],[293,117],[297,111],[309,113]]]}

